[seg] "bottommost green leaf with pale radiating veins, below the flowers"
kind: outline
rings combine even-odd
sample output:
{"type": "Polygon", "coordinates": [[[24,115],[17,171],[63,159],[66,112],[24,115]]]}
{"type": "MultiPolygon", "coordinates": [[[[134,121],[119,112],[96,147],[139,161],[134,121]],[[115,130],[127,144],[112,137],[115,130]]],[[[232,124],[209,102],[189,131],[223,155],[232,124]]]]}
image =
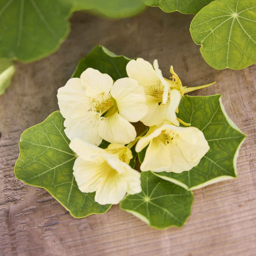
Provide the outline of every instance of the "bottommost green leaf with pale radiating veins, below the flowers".
{"type": "Polygon", "coordinates": [[[151,171],[141,173],[142,192],[126,195],[120,208],[153,228],[181,227],[190,215],[193,194],[151,171]]]}

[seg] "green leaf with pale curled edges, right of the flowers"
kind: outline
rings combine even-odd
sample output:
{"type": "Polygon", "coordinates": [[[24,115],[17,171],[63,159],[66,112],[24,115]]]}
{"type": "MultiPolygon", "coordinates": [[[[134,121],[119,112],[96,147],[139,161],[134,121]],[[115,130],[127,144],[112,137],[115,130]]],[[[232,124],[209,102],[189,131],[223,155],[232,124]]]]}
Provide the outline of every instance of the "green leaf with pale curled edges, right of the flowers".
{"type": "MultiPolygon", "coordinates": [[[[220,96],[182,97],[177,116],[203,131],[210,149],[190,171],[155,175],[191,190],[236,177],[236,160],[245,135],[226,114],[220,96]]],[[[145,150],[139,153],[141,162],[145,150]]]]}

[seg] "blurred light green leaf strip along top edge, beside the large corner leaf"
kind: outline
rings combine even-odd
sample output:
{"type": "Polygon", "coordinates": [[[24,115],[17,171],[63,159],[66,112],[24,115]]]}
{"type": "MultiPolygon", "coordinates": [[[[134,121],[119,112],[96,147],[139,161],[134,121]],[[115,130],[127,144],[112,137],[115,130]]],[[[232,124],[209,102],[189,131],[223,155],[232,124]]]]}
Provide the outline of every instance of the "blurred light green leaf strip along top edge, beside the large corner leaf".
{"type": "Polygon", "coordinates": [[[74,5],[74,11],[91,9],[95,14],[121,19],[131,17],[146,7],[143,0],[62,0],[74,5]]]}

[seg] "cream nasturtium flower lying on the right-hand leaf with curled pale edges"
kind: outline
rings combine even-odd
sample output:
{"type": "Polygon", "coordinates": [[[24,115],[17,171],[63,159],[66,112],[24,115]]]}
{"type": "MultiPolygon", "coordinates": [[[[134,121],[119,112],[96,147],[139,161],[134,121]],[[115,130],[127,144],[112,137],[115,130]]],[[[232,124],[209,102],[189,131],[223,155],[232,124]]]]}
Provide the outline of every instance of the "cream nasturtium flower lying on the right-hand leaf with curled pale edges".
{"type": "Polygon", "coordinates": [[[135,150],[140,152],[147,145],[141,171],[189,171],[198,165],[209,150],[204,134],[198,128],[178,127],[168,123],[149,127],[135,150]]]}

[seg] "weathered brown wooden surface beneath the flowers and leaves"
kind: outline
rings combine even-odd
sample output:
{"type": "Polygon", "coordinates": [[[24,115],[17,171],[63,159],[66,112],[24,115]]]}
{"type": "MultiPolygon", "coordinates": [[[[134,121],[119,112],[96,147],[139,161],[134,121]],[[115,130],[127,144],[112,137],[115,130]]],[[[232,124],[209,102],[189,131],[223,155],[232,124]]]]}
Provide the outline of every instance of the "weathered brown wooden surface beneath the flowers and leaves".
{"type": "Polygon", "coordinates": [[[75,13],[71,34],[57,53],[16,63],[12,84],[0,96],[1,255],[256,255],[255,66],[240,71],[208,66],[190,37],[192,18],[158,8],[121,21],[75,13]],[[151,63],[157,58],[167,77],[172,64],[183,85],[216,80],[195,94],[221,93],[226,112],[247,134],[238,178],[196,190],[192,214],[180,229],[149,228],[118,205],[75,219],[44,189],[14,176],[21,133],[58,110],[58,88],[96,44],[151,63]]]}

